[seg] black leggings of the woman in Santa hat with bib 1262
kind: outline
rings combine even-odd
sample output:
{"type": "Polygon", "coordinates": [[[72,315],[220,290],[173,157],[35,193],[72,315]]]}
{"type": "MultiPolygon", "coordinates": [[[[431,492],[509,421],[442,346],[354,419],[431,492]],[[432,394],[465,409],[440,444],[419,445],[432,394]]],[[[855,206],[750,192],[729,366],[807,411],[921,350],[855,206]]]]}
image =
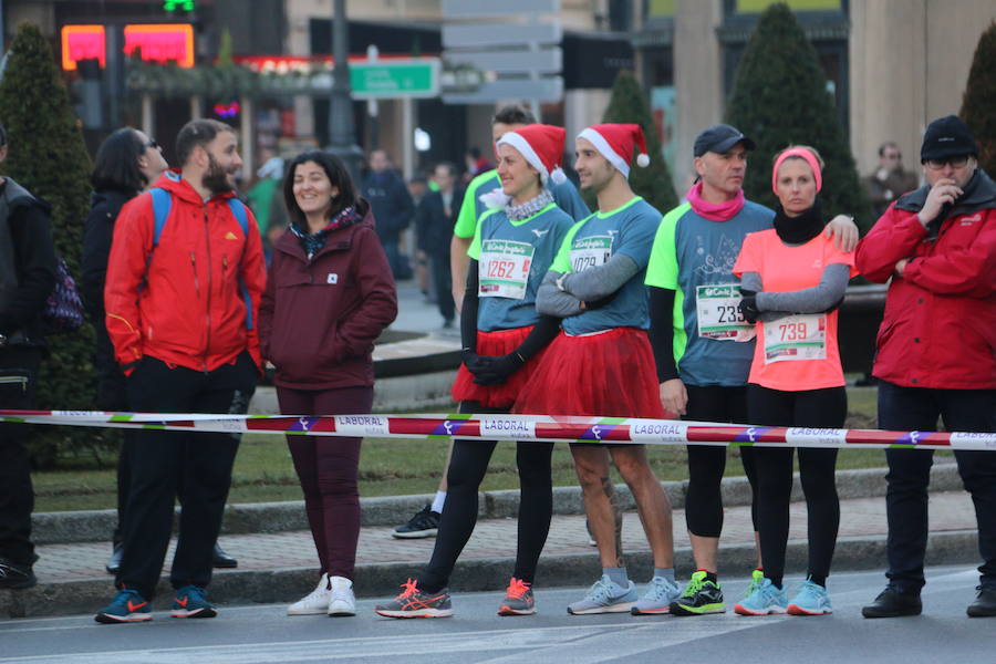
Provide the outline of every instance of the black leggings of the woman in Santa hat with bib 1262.
{"type": "MultiPolygon", "coordinates": [[[[478,402],[461,402],[460,413],[508,413],[508,409],[486,408],[478,402]]],[[[418,588],[438,592],[449,583],[449,574],[457,558],[470,539],[477,523],[477,497],[488,469],[495,440],[456,439],[446,474],[448,489],[433,558],[418,578],[418,588]]],[[[550,443],[517,443],[516,465],[519,468],[519,540],[513,577],[532,583],[553,513],[553,483],[550,477],[550,443]]]]}

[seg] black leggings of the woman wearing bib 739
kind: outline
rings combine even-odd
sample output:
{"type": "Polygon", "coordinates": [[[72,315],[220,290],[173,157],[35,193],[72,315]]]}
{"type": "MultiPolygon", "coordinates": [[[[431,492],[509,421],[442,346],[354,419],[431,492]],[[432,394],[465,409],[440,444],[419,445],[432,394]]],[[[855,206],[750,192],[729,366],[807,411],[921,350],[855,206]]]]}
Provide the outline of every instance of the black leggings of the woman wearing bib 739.
{"type": "MultiPolygon", "coordinates": [[[[753,424],[840,428],[848,416],[844,387],[781,392],[760,385],[747,388],[747,412],[753,424]]],[[[758,531],[765,577],[781,587],[788,543],[789,504],[792,495],[792,448],[757,447],[758,531]]],[[[837,498],[837,449],[799,448],[799,477],[809,517],[809,575],[820,584],[830,574],[830,562],[840,526],[837,498]]]]}

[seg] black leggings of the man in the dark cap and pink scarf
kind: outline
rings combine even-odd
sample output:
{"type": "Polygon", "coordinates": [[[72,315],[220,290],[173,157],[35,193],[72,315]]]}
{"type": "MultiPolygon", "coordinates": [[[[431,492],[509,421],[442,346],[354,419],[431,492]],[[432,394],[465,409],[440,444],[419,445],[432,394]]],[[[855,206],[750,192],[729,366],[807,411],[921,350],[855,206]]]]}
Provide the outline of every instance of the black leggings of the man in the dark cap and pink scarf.
{"type": "MultiPolygon", "coordinates": [[[[747,386],[723,387],[685,385],[688,405],[685,419],[747,424],[747,386]]],[[[740,460],[750,483],[750,520],[757,530],[757,471],[754,448],[741,447],[740,460]]],[[[688,490],[685,498],[685,522],[688,532],[698,537],[719,537],[723,531],[723,492],[720,483],[726,470],[726,446],[688,446],[688,490]]]]}

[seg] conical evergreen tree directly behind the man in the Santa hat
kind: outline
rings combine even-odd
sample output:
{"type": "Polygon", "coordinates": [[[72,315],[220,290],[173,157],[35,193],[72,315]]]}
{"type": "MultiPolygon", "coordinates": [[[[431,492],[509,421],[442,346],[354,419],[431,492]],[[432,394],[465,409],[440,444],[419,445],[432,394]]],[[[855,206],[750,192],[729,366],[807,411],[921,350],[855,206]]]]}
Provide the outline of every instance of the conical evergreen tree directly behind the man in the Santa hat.
{"type": "MultiPolygon", "coordinates": [[[[646,138],[646,154],[651,163],[646,168],[641,168],[633,163],[630,169],[630,186],[633,191],[657,208],[661,214],[667,212],[677,205],[674,195],[674,186],[671,181],[671,173],[664,163],[664,153],[661,148],[661,138],[657,136],[657,127],[651,115],[650,104],[643,89],[632,72],[621,71],[615,76],[612,85],[612,97],[609,107],[602,116],[604,123],[639,124],[643,127],[646,138]]],[[[622,155],[623,158],[632,158],[633,155],[622,155]]],[[[594,209],[592,201],[589,206],[594,209]]]]}

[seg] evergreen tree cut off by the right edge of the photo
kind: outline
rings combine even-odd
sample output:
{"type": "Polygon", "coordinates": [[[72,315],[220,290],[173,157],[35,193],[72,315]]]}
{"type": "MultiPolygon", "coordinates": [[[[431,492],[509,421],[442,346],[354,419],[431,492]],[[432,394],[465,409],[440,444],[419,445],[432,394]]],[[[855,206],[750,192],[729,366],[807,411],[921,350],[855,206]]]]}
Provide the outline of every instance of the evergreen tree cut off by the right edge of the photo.
{"type": "Polygon", "coordinates": [[[996,21],[978,39],[959,115],[978,142],[979,167],[996,177],[996,21]]]}

